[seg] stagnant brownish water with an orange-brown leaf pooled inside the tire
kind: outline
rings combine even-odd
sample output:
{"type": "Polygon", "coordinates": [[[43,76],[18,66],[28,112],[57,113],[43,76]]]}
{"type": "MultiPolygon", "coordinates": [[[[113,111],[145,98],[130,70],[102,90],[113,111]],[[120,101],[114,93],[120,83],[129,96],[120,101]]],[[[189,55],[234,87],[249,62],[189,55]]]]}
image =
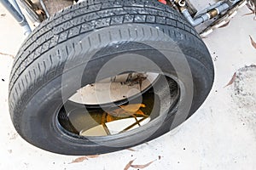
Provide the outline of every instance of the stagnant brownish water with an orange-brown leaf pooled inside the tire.
{"type": "MultiPolygon", "coordinates": [[[[165,78],[172,98],[169,109],[172,109],[179,99],[179,87],[171,77],[165,78]]],[[[141,103],[137,103],[135,98],[117,101],[112,106],[93,105],[91,107],[91,105],[83,105],[68,100],[65,106],[62,106],[57,119],[67,133],[81,136],[106,136],[139,129],[137,127],[150,123],[160,116],[160,107],[160,97],[154,93],[154,88],[150,87],[142,93],[141,103]],[[127,110],[123,107],[130,107],[129,105],[135,105],[137,111],[132,114],[125,114],[127,110]],[[127,125],[117,127],[119,124],[127,125]],[[108,129],[109,127],[110,129],[108,129]],[[116,128],[119,128],[119,130],[116,130],[116,128]]]]}

